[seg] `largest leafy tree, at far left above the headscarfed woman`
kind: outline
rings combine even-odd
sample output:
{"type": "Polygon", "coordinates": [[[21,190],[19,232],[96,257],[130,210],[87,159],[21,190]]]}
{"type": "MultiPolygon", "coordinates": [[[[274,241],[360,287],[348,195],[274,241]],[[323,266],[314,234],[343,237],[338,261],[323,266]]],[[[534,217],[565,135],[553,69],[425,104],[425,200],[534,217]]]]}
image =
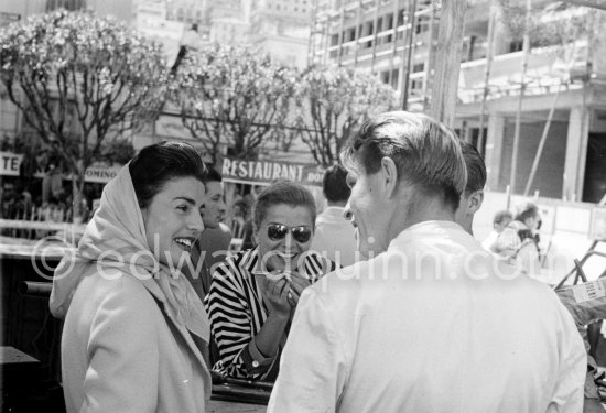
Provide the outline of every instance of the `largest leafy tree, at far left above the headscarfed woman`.
{"type": "Polygon", "coordinates": [[[167,70],[161,46],[110,18],[55,11],[0,31],[0,76],[9,99],[73,176],[79,215],[86,169],[119,138],[153,118],[167,70]]]}

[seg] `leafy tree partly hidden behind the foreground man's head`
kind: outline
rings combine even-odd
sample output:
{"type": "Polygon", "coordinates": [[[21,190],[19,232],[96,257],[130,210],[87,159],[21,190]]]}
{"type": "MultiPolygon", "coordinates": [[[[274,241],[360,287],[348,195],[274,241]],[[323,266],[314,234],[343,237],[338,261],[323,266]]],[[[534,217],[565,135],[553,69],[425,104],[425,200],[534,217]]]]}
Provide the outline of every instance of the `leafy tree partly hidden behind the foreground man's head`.
{"type": "Polygon", "coordinates": [[[365,120],[396,104],[393,89],[376,76],[343,67],[307,68],[295,96],[301,138],[323,166],[338,161],[342,148],[365,120]]]}

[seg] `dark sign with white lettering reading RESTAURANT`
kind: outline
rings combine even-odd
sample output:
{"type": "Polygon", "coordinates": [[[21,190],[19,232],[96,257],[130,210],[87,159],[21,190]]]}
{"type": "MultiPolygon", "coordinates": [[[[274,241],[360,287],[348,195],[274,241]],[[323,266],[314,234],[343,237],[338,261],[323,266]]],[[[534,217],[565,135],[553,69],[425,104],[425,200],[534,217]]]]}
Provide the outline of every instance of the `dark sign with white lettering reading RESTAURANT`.
{"type": "Polygon", "coordinates": [[[324,176],[324,169],[317,164],[241,161],[230,156],[224,157],[220,171],[225,181],[257,185],[288,180],[303,185],[322,186],[324,176]]]}

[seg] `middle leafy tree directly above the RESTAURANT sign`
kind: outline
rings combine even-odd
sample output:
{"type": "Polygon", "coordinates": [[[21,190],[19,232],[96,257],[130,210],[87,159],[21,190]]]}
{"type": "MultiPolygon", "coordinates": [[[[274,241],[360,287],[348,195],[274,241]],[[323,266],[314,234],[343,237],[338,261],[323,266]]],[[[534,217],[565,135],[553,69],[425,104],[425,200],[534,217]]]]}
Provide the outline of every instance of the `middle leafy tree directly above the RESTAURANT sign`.
{"type": "Polygon", "coordinates": [[[172,101],[183,124],[217,162],[220,148],[255,159],[292,107],[295,73],[248,47],[215,44],[187,53],[172,101]]]}

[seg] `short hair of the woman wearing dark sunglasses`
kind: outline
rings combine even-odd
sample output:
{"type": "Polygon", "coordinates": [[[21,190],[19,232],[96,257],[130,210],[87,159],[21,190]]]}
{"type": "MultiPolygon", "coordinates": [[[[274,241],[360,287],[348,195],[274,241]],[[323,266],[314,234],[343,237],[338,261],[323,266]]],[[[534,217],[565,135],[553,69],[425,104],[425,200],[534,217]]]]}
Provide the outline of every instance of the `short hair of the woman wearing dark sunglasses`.
{"type": "Polygon", "coordinates": [[[315,200],[312,193],[301,184],[280,181],[269,185],[259,194],[252,215],[255,227],[258,229],[261,226],[269,208],[281,204],[293,208],[297,206],[307,208],[312,216],[312,225],[315,224],[315,200]]]}

